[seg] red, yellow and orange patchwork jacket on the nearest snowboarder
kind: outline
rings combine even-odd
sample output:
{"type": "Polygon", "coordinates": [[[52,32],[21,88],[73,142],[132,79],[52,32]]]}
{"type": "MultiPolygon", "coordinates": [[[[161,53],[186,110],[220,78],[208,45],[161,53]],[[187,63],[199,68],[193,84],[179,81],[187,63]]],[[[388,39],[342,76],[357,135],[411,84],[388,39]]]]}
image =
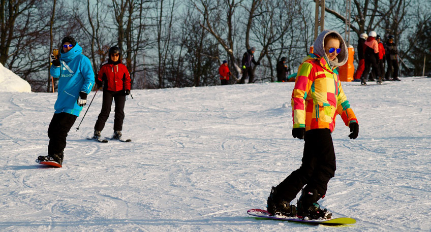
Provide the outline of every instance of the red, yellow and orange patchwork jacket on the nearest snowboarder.
{"type": "Polygon", "coordinates": [[[358,122],[335,68],[316,54],[302,60],[292,92],[293,128],[328,128],[332,132],[337,114],[347,126],[358,122]]]}

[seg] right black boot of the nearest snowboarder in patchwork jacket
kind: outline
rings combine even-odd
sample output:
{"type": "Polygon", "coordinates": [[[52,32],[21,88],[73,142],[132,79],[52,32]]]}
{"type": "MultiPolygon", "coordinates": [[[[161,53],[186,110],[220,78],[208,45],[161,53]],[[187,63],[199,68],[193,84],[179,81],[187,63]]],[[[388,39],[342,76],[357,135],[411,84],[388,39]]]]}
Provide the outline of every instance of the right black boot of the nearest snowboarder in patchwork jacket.
{"type": "Polygon", "coordinates": [[[304,219],[330,219],[332,214],[327,209],[321,209],[317,201],[323,198],[321,194],[317,193],[317,190],[304,190],[299,197],[297,206],[298,212],[297,217],[304,219]]]}

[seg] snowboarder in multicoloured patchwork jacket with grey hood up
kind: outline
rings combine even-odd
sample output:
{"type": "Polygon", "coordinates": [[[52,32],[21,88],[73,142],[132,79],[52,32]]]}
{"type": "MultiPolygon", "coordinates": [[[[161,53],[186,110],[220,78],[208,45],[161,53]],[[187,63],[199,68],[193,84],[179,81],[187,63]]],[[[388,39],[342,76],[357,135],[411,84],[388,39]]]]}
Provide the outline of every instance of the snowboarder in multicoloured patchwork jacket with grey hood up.
{"type": "Polygon", "coordinates": [[[328,181],[336,169],[331,137],[336,115],[341,115],[350,127],[350,139],[356,139],[359,132],[358,120],[336,71],[347,59],[348,49],[341,35],[324,30],[314,42],[314,53],[305,57],[299,66],[292,92],[292,136],[305,141],[302,165],[278,186],[272,187],[267,200],[267,209],[272,215],[309,219],[332,216],[321,209],[317,201],[325,196],[328,181]],[[301,189],[295,207],[290,202],[301,189]]]}

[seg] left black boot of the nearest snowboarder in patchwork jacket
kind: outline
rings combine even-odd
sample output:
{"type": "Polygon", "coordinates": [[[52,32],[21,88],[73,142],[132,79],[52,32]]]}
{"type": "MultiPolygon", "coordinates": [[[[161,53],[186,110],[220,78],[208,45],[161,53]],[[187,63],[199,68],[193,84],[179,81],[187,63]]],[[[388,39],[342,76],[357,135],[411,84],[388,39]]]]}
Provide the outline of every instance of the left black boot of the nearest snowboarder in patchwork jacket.
{"type": "Polygon", "coordinates": [[[287,217],[296,216],[296,206],[290,205],[289,202],[280,199],[276,196],[277,190],[275,187],[271,188],[271,193],[269,194],[266,209],[268,213],[272,215],[282,215],[287,217]]]}

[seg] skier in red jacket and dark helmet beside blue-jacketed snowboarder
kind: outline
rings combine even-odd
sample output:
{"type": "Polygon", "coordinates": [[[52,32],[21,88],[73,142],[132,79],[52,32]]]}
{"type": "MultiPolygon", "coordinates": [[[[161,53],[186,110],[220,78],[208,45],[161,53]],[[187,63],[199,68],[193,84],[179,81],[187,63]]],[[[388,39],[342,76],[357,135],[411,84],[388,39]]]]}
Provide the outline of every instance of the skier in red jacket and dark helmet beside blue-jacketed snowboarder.
{"type": "Polygon", "coordinates": [[[112,100],[115,101],[114,135],[112,138],[121,139],[126,95],[130,94],[130,74],[126,65],[121,63],[120,49],[111,47],[108,54],[108,62],[102,65],[96,78],[98,87],[103,86],[102,110],[94,126],[93,139],[97,140],[100,140],[100,133],[111,112],[112,100]]]}

